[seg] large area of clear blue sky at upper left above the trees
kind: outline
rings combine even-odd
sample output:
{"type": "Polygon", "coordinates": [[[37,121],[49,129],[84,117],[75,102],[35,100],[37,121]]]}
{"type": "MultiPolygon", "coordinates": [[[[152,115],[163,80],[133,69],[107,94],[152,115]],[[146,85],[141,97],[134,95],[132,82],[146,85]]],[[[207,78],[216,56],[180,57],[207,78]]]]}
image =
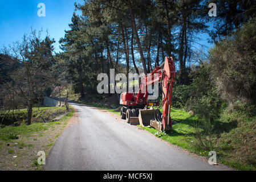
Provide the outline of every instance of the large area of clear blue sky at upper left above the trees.
{"type": "Polygon", "coordinates": [[[21,40],[24,33],[29,34],[30,27],[48,30],[50,37],[56,40],[55,51],[59,52],[59,39],[68,30],[68,23],[75,10],[74,3],[83,0],[0,0],[0,48],[21,40]],[[38,16],[38,4],[46,6],[46,16],[38,16]]]}

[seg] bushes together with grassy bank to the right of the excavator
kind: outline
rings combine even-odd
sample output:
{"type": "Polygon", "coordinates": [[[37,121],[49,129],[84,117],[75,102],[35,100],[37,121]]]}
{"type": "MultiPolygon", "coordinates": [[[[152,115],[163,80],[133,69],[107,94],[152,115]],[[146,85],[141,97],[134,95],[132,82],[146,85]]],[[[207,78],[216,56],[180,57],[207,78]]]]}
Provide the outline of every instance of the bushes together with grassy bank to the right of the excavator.
{"type": "Polygon", "coordinates": [[[191,81],[174,86],[173,107],[184,111],[172,110],[177,123],[162,139],[199,155],[216,151],[219,162],[236,169],[256,169],[255,21],[216,43],[209,61],[188,69],[191,81]]]}

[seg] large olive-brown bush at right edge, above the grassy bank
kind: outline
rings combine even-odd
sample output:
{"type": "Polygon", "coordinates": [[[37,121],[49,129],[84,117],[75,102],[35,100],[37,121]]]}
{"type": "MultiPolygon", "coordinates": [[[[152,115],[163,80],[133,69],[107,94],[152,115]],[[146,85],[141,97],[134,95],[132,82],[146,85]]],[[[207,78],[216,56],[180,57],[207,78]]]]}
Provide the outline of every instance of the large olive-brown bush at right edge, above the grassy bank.
{"type": "Polygon", "coordinates": [[[210,67],[222,98],[256,104],[256,19],[210,50],[210,67]]]}

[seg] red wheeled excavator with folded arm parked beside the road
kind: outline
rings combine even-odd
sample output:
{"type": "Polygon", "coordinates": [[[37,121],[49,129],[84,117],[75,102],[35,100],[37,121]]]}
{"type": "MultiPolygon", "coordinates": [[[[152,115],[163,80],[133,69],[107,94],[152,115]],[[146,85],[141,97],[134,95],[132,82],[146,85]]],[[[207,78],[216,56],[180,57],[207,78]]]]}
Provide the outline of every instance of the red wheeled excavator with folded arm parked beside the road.
{"type": "Polygon", "coordinates": [[[159,131],[172,129],[170,119],[170,106],[172,105],[172,89],[175,82],[175,66],[172,57],[165,57],[164,63],[156,67],[147,76],[141,77],[139,92],[121,93],[120,105],[121,118],[126,119],[131,125],[143,127],[155,127],[159,131]],[[159,96],[156,100],[149,100],[148,86],[160,84],[162,90],[162,102],[159,104],[159,96]],[[144,90],[144,91],[143,91],[144,90]],[[159,110],[162,105],[162,113],[159,110]],[[148,106],[151,106],[148,109],[148,106]],[[153,109],[153,106],[158,106],[153,109]]]}

